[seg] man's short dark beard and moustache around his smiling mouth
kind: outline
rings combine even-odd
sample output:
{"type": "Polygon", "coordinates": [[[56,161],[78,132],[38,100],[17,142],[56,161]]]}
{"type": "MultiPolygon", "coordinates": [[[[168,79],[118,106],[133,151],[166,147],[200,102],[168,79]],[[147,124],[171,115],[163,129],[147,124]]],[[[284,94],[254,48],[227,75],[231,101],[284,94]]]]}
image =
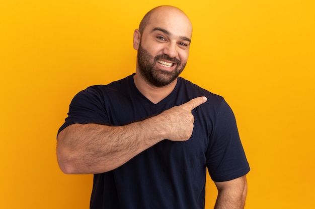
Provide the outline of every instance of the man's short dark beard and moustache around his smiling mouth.
{"type": "Polygon", "coordinates": [[[140,76],[155,87],[163,87],[172,83],[184,70],[186,63],[181,63],[177,58],[170,58],[166,54],[153,57],[145,49],[139,46],[137,52],[138,69],[140,76]],[[156,67],[157,60],[168,60],[176,63],[176,68],[173,71],[161,70],[156,67]]]}

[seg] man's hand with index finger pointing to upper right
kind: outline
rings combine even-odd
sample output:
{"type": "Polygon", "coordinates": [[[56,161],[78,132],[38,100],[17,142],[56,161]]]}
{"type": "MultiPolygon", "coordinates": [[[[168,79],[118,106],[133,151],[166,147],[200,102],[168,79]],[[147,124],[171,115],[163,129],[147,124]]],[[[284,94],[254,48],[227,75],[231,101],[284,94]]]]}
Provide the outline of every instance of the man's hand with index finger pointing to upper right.
{"type": "Polygon", "coordinates": [[[160,117],[159,126],[161,126],[159,129],[166,131],[165,139],[172,141],[188,140],[193,133],[195,121],[191,112],[206,101],[206,97],[197,97],[158,115],[157,117],[160,117]]]}

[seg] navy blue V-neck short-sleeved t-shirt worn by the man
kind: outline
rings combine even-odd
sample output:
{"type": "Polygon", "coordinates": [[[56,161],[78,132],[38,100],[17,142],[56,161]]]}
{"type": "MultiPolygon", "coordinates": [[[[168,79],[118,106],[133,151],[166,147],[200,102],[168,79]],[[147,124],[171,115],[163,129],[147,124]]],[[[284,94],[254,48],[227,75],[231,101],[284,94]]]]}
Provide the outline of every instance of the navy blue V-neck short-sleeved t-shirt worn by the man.
{"type": "Polygon", "coordinates": [[[163,140],[112,171],[94,174],[90,208],[201,209],[206,168],[214,181],[249,172],[234,115],[221,96],[178,78],[173,92],[154,104],[137,90],[133,75],[78,93],[59,132],[74,123],[126,125],[199,96],[207,101],[192,110],[189,140],[163,140]]]}

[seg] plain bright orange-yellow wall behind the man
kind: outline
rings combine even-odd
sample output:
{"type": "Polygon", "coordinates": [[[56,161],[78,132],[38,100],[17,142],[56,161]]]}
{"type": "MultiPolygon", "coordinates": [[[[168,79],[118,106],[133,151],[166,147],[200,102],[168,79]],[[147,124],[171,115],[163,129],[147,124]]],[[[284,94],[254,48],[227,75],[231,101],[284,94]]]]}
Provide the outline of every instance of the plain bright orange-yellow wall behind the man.
{"type": "Polygon", "coordinates": [[[75,93],[134,72],[133,30],[164,4],[194,25],[182,76],[237,117],[246,208],[314,208],[314,1],[110,2],[0,2],[0,208],[88,208],[92,175],[59,170],[57,129],[75,93]]]}

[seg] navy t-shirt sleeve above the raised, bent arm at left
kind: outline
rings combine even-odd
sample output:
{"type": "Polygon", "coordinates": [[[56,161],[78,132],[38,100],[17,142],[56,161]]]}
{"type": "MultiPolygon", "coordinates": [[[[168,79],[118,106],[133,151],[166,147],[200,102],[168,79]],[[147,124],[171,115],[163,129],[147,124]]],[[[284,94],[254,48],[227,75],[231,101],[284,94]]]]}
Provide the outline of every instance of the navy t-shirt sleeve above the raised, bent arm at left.
{"type": "Polygon", "coordinates": [[[70,105],[68,117],[59,128],[58,133],[71,124],[97,123],[108,124],[102,92],[97,87],[89,87],[76,94],[70,105]]]}

